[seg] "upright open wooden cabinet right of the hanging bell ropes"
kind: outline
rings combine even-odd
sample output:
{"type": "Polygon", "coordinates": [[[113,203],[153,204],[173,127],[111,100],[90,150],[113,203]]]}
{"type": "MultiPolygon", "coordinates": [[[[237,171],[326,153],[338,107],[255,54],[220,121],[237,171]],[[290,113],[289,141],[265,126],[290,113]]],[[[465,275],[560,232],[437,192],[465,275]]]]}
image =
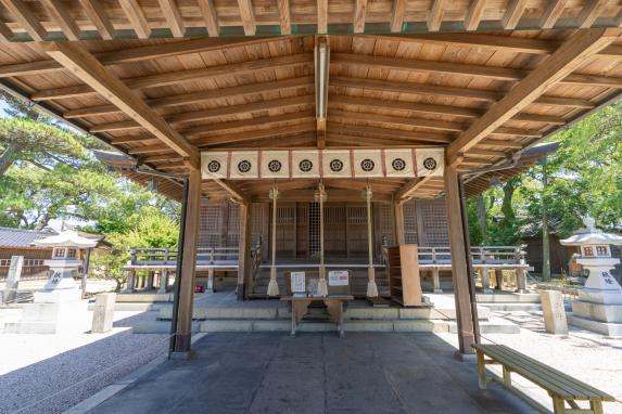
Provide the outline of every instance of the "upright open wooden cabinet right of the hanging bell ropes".
{"type": "Polygon", "coordinates": [[[391,299],[405,306],[428,306],[421,296],[417,245],[390,247],[386,270],[391,299]]]}

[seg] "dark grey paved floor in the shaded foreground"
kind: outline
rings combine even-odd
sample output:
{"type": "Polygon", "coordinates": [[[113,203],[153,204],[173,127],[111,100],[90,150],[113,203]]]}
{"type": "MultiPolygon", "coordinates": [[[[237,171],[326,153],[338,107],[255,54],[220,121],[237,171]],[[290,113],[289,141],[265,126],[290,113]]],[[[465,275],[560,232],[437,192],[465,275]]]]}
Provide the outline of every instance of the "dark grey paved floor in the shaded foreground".
{"type": "Polygon", "coordinates": [[[529,413],[434,334],[210,334],[91,413],[529,413]]]}

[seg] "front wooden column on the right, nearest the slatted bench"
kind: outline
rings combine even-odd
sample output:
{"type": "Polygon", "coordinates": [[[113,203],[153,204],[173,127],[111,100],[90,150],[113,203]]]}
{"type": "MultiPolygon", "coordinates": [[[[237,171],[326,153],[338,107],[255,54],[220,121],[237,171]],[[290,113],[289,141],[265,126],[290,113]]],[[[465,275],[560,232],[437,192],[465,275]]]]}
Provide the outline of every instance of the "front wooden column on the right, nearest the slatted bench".
{"type": "Polygon", "coordinates": [[[469,267],[467,259],[467,241],[465,240],[462,220],[462,202],[458,183],[458,171],[455,167],[445,167],[445,194],[447,203],[447,221],[449,223],[449,247],[452,249],[452,282],[456,300],[456,320],[458,323],[458,341],[460,353],[473,353],[471,345],[475,342],[471,299],[469,294],[469,267]]]}

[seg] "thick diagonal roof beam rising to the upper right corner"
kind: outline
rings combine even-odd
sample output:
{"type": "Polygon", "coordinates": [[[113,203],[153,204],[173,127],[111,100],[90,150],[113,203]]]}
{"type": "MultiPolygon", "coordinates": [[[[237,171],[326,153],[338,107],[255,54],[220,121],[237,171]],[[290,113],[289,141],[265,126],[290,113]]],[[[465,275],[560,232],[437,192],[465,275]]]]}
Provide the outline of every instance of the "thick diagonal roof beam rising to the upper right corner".
{"type": "Polygon", "coordinates": [[[568,76],[579,64],[609,46],[620,36],[619,30],[580,29],[536,69],[518,82],[499,102],[469,127],[447,150],[453,165],[462,153],[484,140],[492,131],[534,102],[550,86],[568,76]]]}

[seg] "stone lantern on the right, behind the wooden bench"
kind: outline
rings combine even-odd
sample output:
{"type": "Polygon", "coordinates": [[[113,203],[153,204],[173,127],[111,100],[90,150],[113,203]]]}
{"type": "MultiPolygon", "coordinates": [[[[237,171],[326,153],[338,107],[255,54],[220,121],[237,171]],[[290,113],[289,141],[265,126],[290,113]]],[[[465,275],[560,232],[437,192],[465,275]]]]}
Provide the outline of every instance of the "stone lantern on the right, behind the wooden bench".
{"type": "Polygon", "coordinates": [[[596,229],[594,219],[584,220],[585,229],[560,241],[581,249],[576,262],[589,272],[579,299],[572,302],[571,325],[608,336],[622,336],[622,287],[610,270],[620,262],[611,257],[611,245],[622,245],[622,236],[596,229]]]}

